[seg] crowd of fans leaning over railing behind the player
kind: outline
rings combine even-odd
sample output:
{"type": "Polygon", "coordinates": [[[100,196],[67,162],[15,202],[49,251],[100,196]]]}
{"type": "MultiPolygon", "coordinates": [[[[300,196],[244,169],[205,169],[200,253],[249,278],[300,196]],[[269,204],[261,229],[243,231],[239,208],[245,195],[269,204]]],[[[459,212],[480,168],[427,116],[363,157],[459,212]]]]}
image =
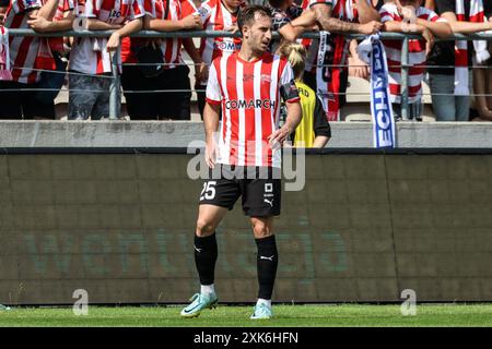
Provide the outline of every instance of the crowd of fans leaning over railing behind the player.
{"type": "MultiPolygon", "coordinates": [[[[112,55],[121,48],[119,73],[131,120],[190,120],[190,69],[194,61],[200,113],[206,103],[208,67],[220,55],[241,48],[241,38],[143,39],[128,35],[141,29],[237,31],[237,13],[245,0],[0,0],[0,24],[7,28],[33,28],[36,37],[10,38],[12,81],[0,81],[0,119],[55,119],[54,100],[63,83],[69,86],[69,120],[97,120],[109,115],[112,55]],[[108,38],[46,38],[43,33],[77,28],[114,31],[108,38]],[[68,72],[68,74],[66,74],[68,72]]],[[[255,1],[258,3],[258,1],[255,1]]],[[[487,41],[440,41],[453,33],[492,31],[492,1],[482,0],[268,0],[272,29],[281,34],[270,50],[289,51],[289,43],[305,47],[304,73],[298,76],[321,93],[317,79],[317,39],[298,39],[304,32],[327,31],[332,55],[326,55],[330,82],[330,121],[339,120],[345,104],[348,76],[368,79],[361,59],[361,43],[344,33],[407,33],[410,40],[409,117],[421,120],[422,82],[427,81],[433,111],[438,121],[492,121],[492,59],[487,41]],[[371,11],[366,11],[371,9],[371,11]],[[479,9],[479,10],[477,10],[479,9]],[[376,13],[377,17],[374,16],[376,13]],[[342,38],[339,40],[339,38],[342,38]],[[483,44],[484,43],[484,44],[483,44]],[[340,47],[338,47],[340,45],[340,47]],[[341,48],[341,50],[339,50],[341,48]],[[339,53],[337,53],[339,52],[339,53]],[[341,52],[341,53],[340,53],[341,52]],[[332,67],[340,65],[340,67],[332,67]],[[471,68],[477,68],[471,71],[471,68]],[[472,79],[471,79],[472,77],[472,79]],[[471,98],[470,96],[475,96],[471,98]],[[332,101],[336,101],[332,104],[332,101]]],[[[491,41],[492,43],[492,41],[491,41]]],[[[401,40],[385,40],[389,88],[396,119],[401,117],[401,40]]],[[[298,51],[298,50],[297,50],[298,51]]],[[[368,92],[367,92],[368,93],[368,92]]],[[[329,111],[327,111],[327,109],[329,111]]]]}

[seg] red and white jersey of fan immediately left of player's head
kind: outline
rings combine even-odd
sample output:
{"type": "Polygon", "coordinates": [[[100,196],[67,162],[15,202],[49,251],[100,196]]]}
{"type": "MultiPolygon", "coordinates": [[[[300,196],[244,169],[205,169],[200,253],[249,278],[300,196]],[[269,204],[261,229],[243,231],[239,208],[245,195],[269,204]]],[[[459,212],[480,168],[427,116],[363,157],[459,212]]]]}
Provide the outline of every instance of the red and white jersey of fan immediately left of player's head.
{"type": "MultiPolygon", "coordinates": [[[[210,32],[225,31],[237,24],[237,12],[231,13],[221,0],[207,0],[198,9],[203,29],[210,32]]],[[[241,37],[203,37],[200,43],[200,55],[204,63],[223,53],[234,53],[241,49],[241,37]]]]}

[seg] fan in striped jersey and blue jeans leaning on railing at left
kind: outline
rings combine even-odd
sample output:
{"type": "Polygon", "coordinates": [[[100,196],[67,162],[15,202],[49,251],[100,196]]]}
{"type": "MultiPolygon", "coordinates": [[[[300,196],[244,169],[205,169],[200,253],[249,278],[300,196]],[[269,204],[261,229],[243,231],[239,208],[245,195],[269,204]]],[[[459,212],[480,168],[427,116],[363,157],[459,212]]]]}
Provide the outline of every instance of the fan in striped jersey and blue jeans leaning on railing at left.
{"type": "MultiPolygon", "coordinates": [[[[83,11],[78,15],[86,20],[90,31],[114,32],[108,39],[74,39],[70,70],[75,74],[70,74],[69,81],[69,120],[109,117],[110,55],[116,55],[121,38],[142,28],[144,14],[142,0],[86,0],[83,3],[83,11]]],[[[120,65],[121,58],[117,59],[120,65]]],[[[120,98],[119,94],[117,96],[120,98]]]]}

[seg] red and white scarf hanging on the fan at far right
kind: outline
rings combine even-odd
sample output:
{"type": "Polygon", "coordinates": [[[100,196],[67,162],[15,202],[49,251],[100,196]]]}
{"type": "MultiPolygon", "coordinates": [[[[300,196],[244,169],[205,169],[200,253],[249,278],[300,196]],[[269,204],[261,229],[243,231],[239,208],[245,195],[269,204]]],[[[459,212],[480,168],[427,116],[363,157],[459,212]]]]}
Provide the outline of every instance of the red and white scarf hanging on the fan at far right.
{"type": "MultiPolygon", "coordinates": [[[[458,21],[466,21],[465,1],[456,0],[456,17],[458,21]]],[[[473,23],[485,22],[482,0],[470,1],[469,21],[473,23]]],[[[487,49],[487,41],[475,40],[473,48],[476,52],[476,60],[482,63],[490,58],[487,49]]],[[[455,95],[468,96],[469,91],[469,73],[468,73],[468,41],[457,40],[455,47],[455,95]]]]}

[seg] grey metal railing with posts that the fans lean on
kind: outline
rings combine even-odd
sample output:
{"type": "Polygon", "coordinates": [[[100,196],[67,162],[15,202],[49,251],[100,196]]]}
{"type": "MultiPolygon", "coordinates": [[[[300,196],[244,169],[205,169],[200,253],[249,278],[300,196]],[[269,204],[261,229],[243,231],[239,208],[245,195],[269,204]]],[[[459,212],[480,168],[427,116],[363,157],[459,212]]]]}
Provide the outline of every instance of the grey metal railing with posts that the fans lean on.
{"type": "MultiPolygon", "coordinates": [[[[11,36],[43,36],[43,37],[109,37],[114,31],[67,31],[57,33],[43,33],[39,34],[33,29],[9,29],[11,36]]],[[[130,35],[130,37],[141,38],[194,38],[194,37],[241,37],[239,33],[231,32],[209,32],[209,31],[179,31],[179,32],[154,32],[154,31],[140,31],[130,35]]],[[[273,38],[281,38],[278,32],[272,34],[273,38]]],[[[318,32],[304,33],[301,38],[319,39],[318,32]]],[[[348,39],[365,39],[366,36],[362,34],[348,34],[348,39]]],[[[408,120],[408,100],[409,100],[409,71],[412,67],[409,64],[409,40],[422,39],[422,36],[417,34],[399,34],[399,33],[380,33],[380,38],[385,40],[402,40],[401,49],[401,117],[403,120],[408,120]]],[[[471,35],[455,34],[448,38],[435,38],[435,41],[449,41],[449,40],[492,40],[492,33],[477,33],[471,35]]],[[[120,56],[120,47],[116,51],[116,55],[112,57],[112,70],[113,80],[109,88],[109,119],[118,119],[120,108],[117,106],[117,94],[120,93],[120,76],[118,74],[118,57],[120,56]]]]}

